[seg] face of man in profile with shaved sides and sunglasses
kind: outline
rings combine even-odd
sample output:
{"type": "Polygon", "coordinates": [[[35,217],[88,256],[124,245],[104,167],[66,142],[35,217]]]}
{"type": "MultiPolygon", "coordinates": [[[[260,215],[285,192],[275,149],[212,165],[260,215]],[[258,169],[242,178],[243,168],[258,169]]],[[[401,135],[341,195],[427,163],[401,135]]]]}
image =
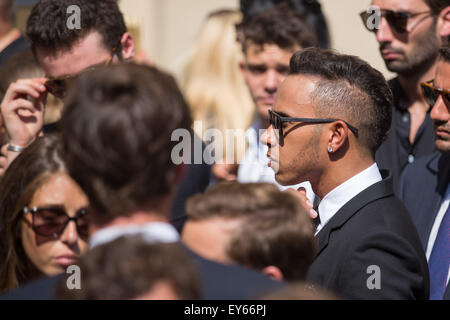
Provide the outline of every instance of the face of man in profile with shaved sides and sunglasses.
{"type": "MultiPolygon", "coordinates": [[[[273,110],[285,117],[317,118],[311,93],[314,91],[314,78],[302,75],[288,76],[281,84],[273,110]]],[[[276,180],[282,185],[294,185],[302,181],[313,181],[315,166],[319,163],[320,132],[318,124],[284,123],[283,143],[272,126],[261,137],[262,143],[269,146],[269,166],[275,171],[276,180]]],[[[326,151],[325,144],[322,149],[326,151]]]]}

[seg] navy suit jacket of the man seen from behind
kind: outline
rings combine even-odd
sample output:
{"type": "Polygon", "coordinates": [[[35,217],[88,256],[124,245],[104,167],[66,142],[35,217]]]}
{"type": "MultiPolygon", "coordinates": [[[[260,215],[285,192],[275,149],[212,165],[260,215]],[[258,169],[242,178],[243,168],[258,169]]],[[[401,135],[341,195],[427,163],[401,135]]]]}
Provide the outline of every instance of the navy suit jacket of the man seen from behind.
{"type": "MultiPolygon", "coordinates": [[[[284,286],[284,283],[273,281],[259,272],[204,259],[183,244],[181,246],[197,267],[205,300],[257,299],[284,286]]],[[[66,279],[65,275],[58,275],[36,280],[0,296],[0,300],[52,300],[62,277],[66,279]]]]}

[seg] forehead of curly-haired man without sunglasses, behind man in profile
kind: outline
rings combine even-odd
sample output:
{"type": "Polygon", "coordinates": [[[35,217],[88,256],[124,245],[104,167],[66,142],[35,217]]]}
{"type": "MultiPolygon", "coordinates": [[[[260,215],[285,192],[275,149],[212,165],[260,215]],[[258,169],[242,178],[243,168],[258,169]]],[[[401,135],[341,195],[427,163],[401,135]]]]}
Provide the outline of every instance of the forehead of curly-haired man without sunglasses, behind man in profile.
{"type": "Polygon", "coordinates": [[[283,49],[276,44],[256,45],[250,44],[246,50],[248,62],[289,64],[289,60],[297,48],[283,49]]]}

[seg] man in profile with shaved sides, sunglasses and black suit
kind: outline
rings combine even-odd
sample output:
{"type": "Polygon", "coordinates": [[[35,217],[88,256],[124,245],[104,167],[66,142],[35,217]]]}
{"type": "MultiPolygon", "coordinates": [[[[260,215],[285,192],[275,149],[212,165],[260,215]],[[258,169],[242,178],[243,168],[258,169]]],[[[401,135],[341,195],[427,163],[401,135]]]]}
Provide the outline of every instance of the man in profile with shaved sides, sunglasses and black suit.
{"type": "Polygon", "coordinates": [[[308,280],[344,298],[429,294],[417,231],[392,177],[374,162],[391,108],[388,84],[366,62],[309,48],[292,57],[263,135],[277,181],[311,181],[322,199],[308,280]]]}

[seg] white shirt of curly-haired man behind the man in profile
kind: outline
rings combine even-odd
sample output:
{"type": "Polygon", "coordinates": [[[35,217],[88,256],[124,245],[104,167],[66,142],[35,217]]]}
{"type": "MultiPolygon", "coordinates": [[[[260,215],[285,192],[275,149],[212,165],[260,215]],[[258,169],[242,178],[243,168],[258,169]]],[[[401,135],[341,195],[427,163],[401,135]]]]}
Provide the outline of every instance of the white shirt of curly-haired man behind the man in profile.
{"type": "Polygon", "coordinates": [[[248,149],[239,164],[237,181],[241,183],[267,182],[275,184],[280,190],[289,188],[297,190],[299,187],[306,189],[306,196],[314,202],[314,192],[309,182],[302,182],[294,186],[282,186],[275,180],[275,172],[268,166],[267,145],[260,143],[260,136],[264,132],[261,121],[257,120],[246,132],[248,149]]]}

